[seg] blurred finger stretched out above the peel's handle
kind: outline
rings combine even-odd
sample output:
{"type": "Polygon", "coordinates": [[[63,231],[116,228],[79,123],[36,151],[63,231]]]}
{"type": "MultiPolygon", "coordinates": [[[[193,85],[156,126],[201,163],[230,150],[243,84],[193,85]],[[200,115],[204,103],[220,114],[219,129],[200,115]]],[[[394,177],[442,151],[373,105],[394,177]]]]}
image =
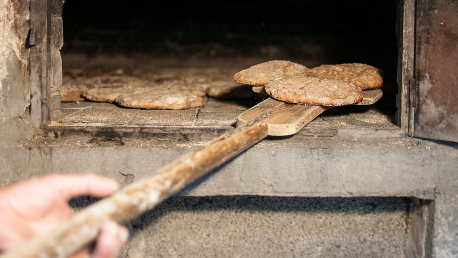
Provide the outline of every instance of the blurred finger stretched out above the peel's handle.
{"type": "Polygon", "coordinates": [[[66,200],[80,195],[105,197],[119,190],[119,183],[116,180],[93,173],[52,174],[42,177],[41,180],[45,181],[45,184],[53,186],[66,200]]]}

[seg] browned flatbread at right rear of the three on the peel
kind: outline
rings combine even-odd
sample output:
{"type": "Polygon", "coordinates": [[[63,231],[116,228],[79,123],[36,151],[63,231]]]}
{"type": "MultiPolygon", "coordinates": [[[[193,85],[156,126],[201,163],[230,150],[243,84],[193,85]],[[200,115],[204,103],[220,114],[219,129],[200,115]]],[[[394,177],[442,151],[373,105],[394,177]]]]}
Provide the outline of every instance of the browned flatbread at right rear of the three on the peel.
{"type": "Polygon", "coordinates": [[[363,90],[374,90],[383,85],[383,72],[368,64],[323,64],[309,69],[308,75],[318,78],[330,78],[347,81],[363,90]]]}

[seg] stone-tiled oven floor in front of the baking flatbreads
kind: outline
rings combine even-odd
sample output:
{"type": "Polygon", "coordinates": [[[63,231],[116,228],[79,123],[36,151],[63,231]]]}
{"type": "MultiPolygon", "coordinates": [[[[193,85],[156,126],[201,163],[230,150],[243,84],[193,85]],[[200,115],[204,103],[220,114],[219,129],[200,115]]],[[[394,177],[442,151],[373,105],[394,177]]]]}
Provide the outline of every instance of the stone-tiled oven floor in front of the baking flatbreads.
{"type": "MultiPolygon", "coordinates": [[[[204,98],[204,105],[186,110],[145,110],[119,107],[111,103],[78,101],[61,104],[62,119],[53,126],[88,127],[234,127],[237,116],[258,99],[221,100],[204,98]]],[[[329,110],[307,128],[395,129],[393,117],[374,107],[341,107],[329,110]]]]}

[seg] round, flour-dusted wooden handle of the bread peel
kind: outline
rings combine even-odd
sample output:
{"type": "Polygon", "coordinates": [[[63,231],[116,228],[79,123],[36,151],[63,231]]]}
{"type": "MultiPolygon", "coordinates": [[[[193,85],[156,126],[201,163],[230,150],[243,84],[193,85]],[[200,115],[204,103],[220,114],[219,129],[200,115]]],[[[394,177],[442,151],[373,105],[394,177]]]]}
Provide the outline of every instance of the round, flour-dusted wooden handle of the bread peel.
{"type": "Polygon", "coordinates": [[[276,113],[263,113],[246,125],[221,135],[209,145],[89,206],[56,230],[5,254],[3,258],[64,258],[78,252],[94,242],[100,226],[107,219],[118,223],[133,219],[264,139],[268,131],[266,121],[276,113]]]}

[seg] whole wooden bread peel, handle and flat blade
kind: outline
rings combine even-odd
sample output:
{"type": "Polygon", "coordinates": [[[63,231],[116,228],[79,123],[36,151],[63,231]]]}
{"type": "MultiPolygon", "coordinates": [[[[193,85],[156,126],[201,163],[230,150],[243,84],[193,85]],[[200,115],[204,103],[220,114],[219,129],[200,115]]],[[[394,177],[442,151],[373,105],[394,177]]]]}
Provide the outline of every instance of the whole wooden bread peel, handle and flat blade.
{"type": "MultiPolygon", "coordinates": [[[[364,92],[362,105],[374,103],[381,95],[381,90],[364,92]]],[[[294,134],[328,108],[268,98],[242,113],[236,129],[89,206],[55,230],[2,258],[64,258],[89,248],[107,219],[125,223],[135,218],[268,135],[294,134]]]]}

